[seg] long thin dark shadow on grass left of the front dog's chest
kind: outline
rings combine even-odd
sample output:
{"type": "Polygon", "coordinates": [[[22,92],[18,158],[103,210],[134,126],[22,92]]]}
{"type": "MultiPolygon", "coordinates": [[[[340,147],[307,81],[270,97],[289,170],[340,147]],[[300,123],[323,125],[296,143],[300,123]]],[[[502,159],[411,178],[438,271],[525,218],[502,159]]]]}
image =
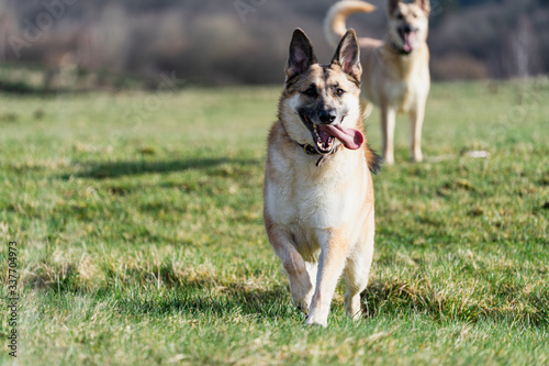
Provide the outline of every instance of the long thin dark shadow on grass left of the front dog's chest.
{"type": "MultiPolygon", "coordinates": [[[[257,159],[234,159],[227,157],[216,158],[189,158],[172,160],[125,160],[109,163],[83,163],[86,167],[82,173],[77,174],[79,178],[107,179],[122,176],[142,175],[150,173],[171,173],[189,169],[206,169],[222,164],[258,164],[257,159]]],[[[64,176],[68,178],[69,176],[64,176]]]]}

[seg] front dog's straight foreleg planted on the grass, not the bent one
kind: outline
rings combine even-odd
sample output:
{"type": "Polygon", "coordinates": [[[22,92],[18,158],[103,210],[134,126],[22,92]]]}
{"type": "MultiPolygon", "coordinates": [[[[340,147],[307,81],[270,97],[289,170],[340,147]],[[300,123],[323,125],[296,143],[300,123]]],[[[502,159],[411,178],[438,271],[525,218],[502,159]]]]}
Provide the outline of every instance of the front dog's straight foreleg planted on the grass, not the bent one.
{"type": "Polygon", "coordinates": [[[343,232],[330,230],[320,231],[318,242],[322,251],[316,275],[316,290],[305,323],[326,326],[337,280],[347,259],[348,243],[343,232]]]}

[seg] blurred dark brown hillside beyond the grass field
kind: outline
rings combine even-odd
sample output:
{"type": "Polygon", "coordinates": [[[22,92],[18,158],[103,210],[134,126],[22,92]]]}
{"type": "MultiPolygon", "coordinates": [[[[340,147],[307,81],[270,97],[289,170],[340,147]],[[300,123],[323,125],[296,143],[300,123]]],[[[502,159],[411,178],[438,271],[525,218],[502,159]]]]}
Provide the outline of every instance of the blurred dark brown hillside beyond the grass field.
{"type": "MultiPolygon", "coordinates": [[[[167,75],[191,84],[279,84],[291,33],[302,27],[327,62],[322,22],[334,0],[0,0],[0,59],[72,75],[83,87],[167,75]],[[173,74],[175,73],[175,74],[173,74]]],[[[385,1],[349,20],[383,37],[385,1]]],[[[549,0],[432,0],[434,79],[526,77],[549,71],[549,0]]],[[[11,73],[8,73],[11,74],[11,73]]],[[[0,85],[0,88],[2,86],[0,85]]]]}

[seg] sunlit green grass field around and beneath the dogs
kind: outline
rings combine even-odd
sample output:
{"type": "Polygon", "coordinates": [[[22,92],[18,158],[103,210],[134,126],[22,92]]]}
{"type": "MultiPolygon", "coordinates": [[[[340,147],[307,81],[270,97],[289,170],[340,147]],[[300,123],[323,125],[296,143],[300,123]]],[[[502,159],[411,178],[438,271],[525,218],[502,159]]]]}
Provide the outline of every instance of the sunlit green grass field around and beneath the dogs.
{"type": "Polygon", "coordinates": [[[422,164],[399,120],[365,318],[341,286],[327,329],[303,325],[264,232],[278,93],[0,96],[16,364],[548,365],[549,80],[434,85],[422,164]]]}

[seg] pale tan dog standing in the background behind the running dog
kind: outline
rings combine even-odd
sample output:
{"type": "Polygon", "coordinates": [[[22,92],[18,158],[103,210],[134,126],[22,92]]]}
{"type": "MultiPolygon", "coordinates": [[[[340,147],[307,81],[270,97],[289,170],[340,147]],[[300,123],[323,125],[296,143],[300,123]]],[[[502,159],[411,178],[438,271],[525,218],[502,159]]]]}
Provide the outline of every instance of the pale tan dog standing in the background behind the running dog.
{"type": "MultiPolygon", "coordinates": [[[[345,33],[345,22],[349,14],[371,12],[373,9],[373,5],[356,0],[334,4],[324,22],[328,42],[334,43],[334,40],[345,33]]],[[[411,4],[389,0],[389,32],[385,38],[359,38],[365,74],[362,91],[368,101],[381,109],[382,148],[386,164],[394,163],[393,137],[399,112],[405,112],[410,118],[412,160],[423,159],[422,126],[430,87],[429,49],[426,43],[429,11],[428,0],[416,0],[411,4]],[[399,52],[404,44],[399,34],[403,24],[417,29],[414,48],[410,54],[399,52]]]]}

